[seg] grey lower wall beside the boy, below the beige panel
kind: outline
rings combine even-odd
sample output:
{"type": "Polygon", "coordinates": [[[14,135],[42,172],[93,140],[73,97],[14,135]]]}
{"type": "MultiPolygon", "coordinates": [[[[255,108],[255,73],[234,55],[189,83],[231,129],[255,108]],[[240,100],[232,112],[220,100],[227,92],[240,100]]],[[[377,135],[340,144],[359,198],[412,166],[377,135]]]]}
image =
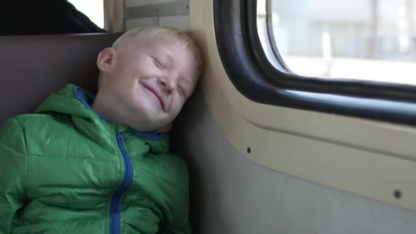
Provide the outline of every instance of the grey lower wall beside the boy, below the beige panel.
{"type": "Polygon", "coordinates": [[[415,211],[252,164],[218,129],[200,90],[174,125],[172,149],[190,166],[194,233],[416,233],[415,211]]]}

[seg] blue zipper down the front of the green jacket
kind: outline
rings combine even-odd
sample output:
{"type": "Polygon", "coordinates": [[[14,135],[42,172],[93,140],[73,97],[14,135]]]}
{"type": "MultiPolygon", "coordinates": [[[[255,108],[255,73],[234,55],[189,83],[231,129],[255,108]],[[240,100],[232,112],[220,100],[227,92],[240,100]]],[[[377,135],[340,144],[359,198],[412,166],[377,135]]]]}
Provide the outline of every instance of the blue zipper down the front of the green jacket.
{"type": "Polygon", "coordinates": [[[127,154],[122,133],[117,133],[117,144],[124,159],[125,176],[122,179],[122,183],[120,187],[118,187],[118,190],[114,192],[111,203],[109,205],[110,234],[120,234],[120,199],[122,195],[127,191],[127,189],[129,189],[131,181],[133,180],[133,164],[131,164],[131,159],[127,154]]]}

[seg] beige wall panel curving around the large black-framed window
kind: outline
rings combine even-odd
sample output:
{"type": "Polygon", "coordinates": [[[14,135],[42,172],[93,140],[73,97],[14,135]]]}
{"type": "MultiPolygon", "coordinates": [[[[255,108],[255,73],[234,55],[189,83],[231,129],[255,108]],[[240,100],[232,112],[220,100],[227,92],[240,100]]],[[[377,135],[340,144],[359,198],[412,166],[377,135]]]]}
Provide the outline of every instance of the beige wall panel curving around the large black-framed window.
{"type": "Polygon", "coordinates": [[[203,92],[237,151],[280,172],[416,209],[415,128],[246,99],[222,66],[212,1],[191,0],[190,9],[191,33],[205,52],[203,92]],[[393,196],[395,190],[402,198],[393,196]]]}

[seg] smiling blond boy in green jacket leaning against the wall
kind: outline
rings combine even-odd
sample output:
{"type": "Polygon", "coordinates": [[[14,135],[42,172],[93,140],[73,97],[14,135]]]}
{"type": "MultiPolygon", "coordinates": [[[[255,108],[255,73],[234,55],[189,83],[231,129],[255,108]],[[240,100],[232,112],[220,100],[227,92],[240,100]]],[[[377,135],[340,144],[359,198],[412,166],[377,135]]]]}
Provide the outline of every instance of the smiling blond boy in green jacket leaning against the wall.
{"type": "Polygon", "coordinates": [[[69,84],[0,128],[0,233],[190,233],[166,131],[196,86],[196,45],[132,29],[97,66],[94,99],[69,84]]]}

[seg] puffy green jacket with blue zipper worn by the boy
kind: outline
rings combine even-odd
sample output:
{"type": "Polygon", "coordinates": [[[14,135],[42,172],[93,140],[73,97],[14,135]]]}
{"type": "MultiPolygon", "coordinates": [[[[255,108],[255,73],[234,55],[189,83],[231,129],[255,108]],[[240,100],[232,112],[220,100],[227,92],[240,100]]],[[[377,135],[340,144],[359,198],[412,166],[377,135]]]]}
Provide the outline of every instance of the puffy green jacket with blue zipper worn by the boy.
{"type": "Polygon", "coordinates": [[[0,128],[0,233],[190,233],[168,135],[111,122],[66,86],[0,128]]]}

